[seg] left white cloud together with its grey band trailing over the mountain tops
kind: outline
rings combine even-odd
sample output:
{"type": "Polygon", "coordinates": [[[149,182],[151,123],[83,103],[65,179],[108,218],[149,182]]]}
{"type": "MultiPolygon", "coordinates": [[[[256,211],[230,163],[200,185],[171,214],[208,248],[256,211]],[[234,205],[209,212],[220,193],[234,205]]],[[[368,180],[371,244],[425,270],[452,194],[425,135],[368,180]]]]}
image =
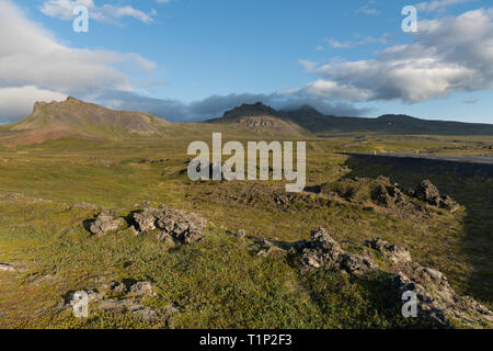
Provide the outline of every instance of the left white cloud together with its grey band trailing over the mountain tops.
{"type": "MultiPolygon", "coordinates": [[[[215,95],[192,103],[154,99],[136,93],[128,70],[152,70],[154,64],[137,54],[72,48],[34,24],[10,0],[0,1],[0,122],[26,116],[35,101],[64,100],[73,95],[110,107],[144,111],[171,121],[197,121],[217,117],[241,103],[263,101],[275,107],[295,109],[309,103],[329,114],[362,115],[368,111],[347,103],[326,101],[303,91],[271,94],[215,95]]],[[[316,69],[316,63],[306,63],[316,69]]],[[[153,82],[162,83],[162,82],[153,82]]],[[[318,87],[313,89],[328,87],[318,87]]],[[[351,93],[352,88],[347,88],[351,93]]]]}

